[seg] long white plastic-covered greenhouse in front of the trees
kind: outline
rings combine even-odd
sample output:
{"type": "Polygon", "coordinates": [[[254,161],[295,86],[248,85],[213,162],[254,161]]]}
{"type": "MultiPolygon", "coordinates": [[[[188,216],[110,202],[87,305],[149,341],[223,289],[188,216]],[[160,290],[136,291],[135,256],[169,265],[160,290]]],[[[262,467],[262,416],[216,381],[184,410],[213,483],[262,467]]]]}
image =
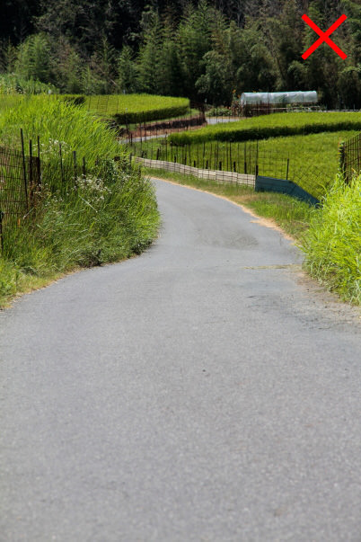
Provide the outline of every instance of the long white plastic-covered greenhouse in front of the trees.
{"type": "Polygon", "coordinates": [[[276,111],[308,106],[318,102],[316,91],[295,91],[287,93],[242,93],[241,108],[244,116],[262,115],[276,111]]]}

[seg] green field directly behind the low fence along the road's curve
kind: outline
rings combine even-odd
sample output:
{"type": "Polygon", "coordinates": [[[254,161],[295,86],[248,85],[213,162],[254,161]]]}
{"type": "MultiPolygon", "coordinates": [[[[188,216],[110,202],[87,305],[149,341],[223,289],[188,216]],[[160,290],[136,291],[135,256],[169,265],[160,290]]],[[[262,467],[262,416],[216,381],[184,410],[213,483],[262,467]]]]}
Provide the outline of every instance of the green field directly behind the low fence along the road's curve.
{"type": "MultiPolygon", "coordinates": [[[[285,118],[285,117],[284,117],[285,118]]],[[[321,198],[339,167],[339,142],[356,135],[354,131],[326,132],[309,136],[269,138],[258,142],[227,143],[211,141],[172,146],[164,139],[134,144],[134,155],[176,160],[199,168],[222,169],[238,173],[256,172],[289,179],[305,191],[321,198]]]]}

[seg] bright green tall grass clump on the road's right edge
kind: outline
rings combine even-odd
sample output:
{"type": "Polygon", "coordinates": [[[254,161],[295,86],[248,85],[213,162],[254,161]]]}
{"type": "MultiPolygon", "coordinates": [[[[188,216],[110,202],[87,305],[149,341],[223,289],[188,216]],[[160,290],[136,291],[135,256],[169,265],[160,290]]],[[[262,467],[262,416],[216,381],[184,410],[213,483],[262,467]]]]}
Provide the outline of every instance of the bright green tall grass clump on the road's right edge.
{"type": "Polygon", "coordinates": [[[361,304],[361,176],[349,185],[337,177],[321,209],[313,212],[301,248],[316,279],[361,304]]]}

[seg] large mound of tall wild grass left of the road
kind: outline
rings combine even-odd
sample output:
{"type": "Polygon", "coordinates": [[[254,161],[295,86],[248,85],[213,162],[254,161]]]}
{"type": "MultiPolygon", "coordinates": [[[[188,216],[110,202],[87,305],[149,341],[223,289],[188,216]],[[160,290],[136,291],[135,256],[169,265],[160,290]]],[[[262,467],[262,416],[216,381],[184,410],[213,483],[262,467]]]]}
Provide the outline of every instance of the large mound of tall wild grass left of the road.
{"type": "MultiPolygon", "coordinates": [[[[21,127],[26,138],[40,136],[41,190],[30,213],[4,218],[0,304],[78,266],[140,253],[159,223],[153,185],[91,112],[34,96],[0,116],[2,144],[20,147],[21,127]],[[76,149],[87,164],[86,175],[79,172],[76,179],[66,169],[60,187],[59,144],[64,160],[76,149]]],[[[6,188],[3,182],[0,190],[6,188]]]]}

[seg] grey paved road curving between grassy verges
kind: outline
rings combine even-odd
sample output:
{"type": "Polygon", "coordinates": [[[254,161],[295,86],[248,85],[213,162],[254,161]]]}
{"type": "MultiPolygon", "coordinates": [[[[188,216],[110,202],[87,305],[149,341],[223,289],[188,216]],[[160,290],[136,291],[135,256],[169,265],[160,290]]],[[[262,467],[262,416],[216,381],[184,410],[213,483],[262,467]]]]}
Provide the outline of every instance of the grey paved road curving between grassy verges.
{"type": "Polygon", "coordinates": [[[230,202],[0,314],[0,540],[361,540],[357,324],[230,202]]]}

